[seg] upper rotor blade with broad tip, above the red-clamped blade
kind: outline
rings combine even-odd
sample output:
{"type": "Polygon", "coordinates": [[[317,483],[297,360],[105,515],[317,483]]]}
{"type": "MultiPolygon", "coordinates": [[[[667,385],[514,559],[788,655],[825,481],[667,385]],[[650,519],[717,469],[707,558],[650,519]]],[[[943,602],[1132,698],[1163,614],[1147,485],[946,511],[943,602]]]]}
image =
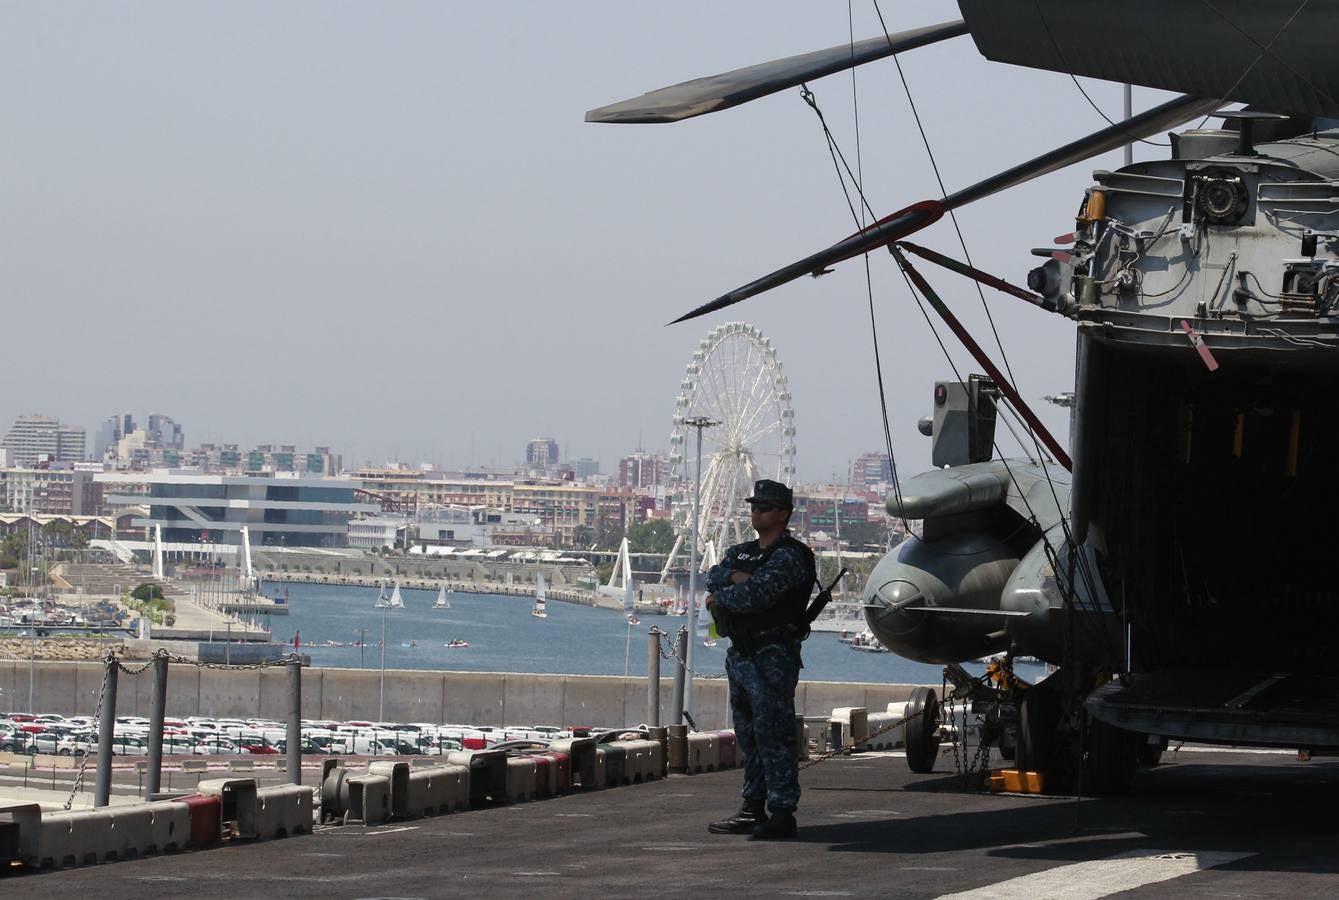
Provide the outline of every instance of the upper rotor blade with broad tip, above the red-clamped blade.
{"type": "Polygon", "coordinates": [[[590,110],[586,122],[678,122],[706,112],[727,110],[759,96],[767,96],[803,82],[884,59],[967,33],[967,23],[945,21],[912,28],[896,35],[880,35],[853,44],[838,44],[798,56],[708,75],[590,110]]]}

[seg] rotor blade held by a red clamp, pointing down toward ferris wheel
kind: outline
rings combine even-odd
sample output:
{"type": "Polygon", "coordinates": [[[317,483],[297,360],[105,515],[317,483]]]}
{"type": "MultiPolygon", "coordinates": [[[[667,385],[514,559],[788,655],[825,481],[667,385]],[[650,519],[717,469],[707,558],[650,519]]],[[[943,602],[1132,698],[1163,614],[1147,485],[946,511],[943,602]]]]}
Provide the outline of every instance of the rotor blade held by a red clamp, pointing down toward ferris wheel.
{"type": "Polygon", "coordinates": [[[893,213],[892,216],[886,216],[873,225],[856,232],[850,237],[833,244],[828,249],[805,257],[798,262],[791,262],[790,265],[777,269],[770,275],[765,275],[755,281],[750,281],[740,288],[735,288],[734,291],[716,297],[711,303],[706,303],[696,309],[679,316],[670,324],[678,324],[680,321],[687,321],[688,319],[696,319],[698,316],[708,312],[715,312],[716,309],[723,309],[739,303],[740,300],[747,300],[749,297],[763,293],[765,291],[771,291],[773,288],[794,281],[803,275],[822,275],[828,271],[828,267],[836,262],[886,246],[893,241],[898,241],[915,232],[921,230],[923,228],[933,225],[940,216],[951,209],[965,206],[972,201],[990,197],[991,194],[1048,174],[1056,169],[1063,169],[1071,163],[1082,162],[1089,157],[1123,146],[1130,141],[1138,141],[1139,138],[1154,134],[1162,129],[1173,127],[1197,115],[1204,115],[1217,108],[1218,103],[1220,100],[1217,99],[1204,99],[1197,96],[1178,96],[1168,100],[1161,106],[1156,106],[1152,110],[1141,112],[1139,115],[1129,118],[1114,126],[1109,126],[1101,131],[1094,131],[1086,138],[1056,147],[1050,153],[1044,153],[1040,157],[1030,159],[1019,166],[1014,166],[1012,169],[1006,169],[998,175],[991,175],[990,178],[979,181],[969,188],[964,188],[963,190],[949,194],[943,201],[921,201],[920,204],[908,206],[907,209],[893,213]]]}

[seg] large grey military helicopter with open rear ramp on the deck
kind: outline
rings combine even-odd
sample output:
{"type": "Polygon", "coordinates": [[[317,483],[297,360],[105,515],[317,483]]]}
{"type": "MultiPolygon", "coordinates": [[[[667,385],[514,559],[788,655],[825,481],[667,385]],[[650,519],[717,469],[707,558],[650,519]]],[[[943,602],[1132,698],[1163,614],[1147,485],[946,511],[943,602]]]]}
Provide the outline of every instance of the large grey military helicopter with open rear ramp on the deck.
{"type": "MultiPolygon", "coordinates": [[[[876,567],[864,605],[889,648],[959,675],[992,652],[1006,668],[1022,655],[1058,667],[1036,684],[955,678],[959,698],[994,710],[983,742],[1020,767],[1106,793],[1168,739],[1339,747],[1339,9],[959,8],[957,21],[684,82],[586,121],[678,122],[961,36],[996,63],[1180,96],[893,212],[675,321],[886,248],[972,350],[987,376],[936,384],[923,423],[936,469],[886,501],[921,533],[876,567]],[[952,209],[1214,112],[1221,127],[1170,131],[1169,158],[1095,171],[1073,230],[1019,267],[1026,288],[908,240],[952,209]],[[1074,323],[1073,459],[953,327],[923,261],[1074,323]],[[1026,421],[1035,453],[994,453],[999,410],[1026,421]]],[[[908,710],[908,762],[929,771],[939,698],[917,688],[908,710]]]]}

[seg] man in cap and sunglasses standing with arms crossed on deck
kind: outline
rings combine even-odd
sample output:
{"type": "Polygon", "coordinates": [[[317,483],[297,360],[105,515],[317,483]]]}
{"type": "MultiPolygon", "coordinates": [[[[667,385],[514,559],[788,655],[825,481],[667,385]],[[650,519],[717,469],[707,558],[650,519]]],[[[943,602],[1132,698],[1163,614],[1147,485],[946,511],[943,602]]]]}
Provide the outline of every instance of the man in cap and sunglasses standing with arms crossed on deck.
{"type": "Polygon", "coordinates": [[[707,830],[771,840],[795,836],[795,684],[814,554],[787,528],[790,487],[758,481],[749,504],[758,540],[731,546],[707,573],[707,609],[718,633],[730,638],[726,675],[744,767],[743,805],[707,830]]]}

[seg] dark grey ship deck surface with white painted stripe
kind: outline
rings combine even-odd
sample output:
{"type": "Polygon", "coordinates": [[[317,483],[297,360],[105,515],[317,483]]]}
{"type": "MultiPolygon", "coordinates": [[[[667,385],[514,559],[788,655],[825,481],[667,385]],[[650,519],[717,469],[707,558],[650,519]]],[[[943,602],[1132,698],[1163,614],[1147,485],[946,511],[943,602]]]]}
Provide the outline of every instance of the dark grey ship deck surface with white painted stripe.
{"type": "Polygon", "coordinates": [[[935,897],[979,888],[1032,900],[1127,888],[1121,896],[1339,895],[1339,762],[1189,750],[1166,759],[1141,774],[1131,796],[1081,804],[964,792],[947,755],[928,775],[913,775],[894,754],[834,759],[802,774],[801,832],[791,841],[707,833],[708,820],[736,808],[740,775],[723,771],[375,829],[332,826],[16,873],[3,889],[174,900],[935,897]],[[1059,868],[1121,854],[1139,858],[1059,868]],[[1196,860],[1210,868],[1157,880],[1173,871],[1165,867],[1193,869],[1196,860]]]}

